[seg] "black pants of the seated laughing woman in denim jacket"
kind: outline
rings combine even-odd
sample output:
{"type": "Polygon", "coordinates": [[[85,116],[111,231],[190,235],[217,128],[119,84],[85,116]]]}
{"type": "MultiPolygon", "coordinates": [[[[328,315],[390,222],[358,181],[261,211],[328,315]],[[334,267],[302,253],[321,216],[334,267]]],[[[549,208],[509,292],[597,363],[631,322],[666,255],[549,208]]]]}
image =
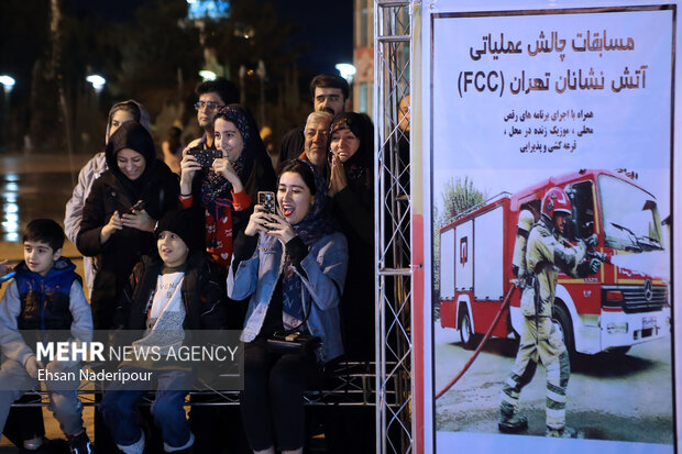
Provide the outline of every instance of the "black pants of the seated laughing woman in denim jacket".
{"type": "Polygon", "coordinates": [[[244,346],[244,390],[241,409],[249,445],[293,451],[306,441],[304,391],[318,378],[312,354],[278,355],[257,339],[244,346]]]}

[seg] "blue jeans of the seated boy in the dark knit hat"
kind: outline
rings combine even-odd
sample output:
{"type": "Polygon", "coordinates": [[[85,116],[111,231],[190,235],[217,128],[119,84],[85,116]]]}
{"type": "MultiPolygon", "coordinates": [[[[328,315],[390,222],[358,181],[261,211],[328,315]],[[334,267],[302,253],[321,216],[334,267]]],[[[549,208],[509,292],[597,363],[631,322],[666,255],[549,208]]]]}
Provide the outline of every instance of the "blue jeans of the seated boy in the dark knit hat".
{"type": "MultiPolygon", "coordinates": [[[[138,367],[122,367],[121,372],[148,372],[138,367]]],[[[155,370],[158,387],[152,403],[154,424],[161,429],[164,443],[169,447],[186,445],[190,438],[185,417],[185,397],[191,387],[191,373],[187,370],[155,370]],[[185,387],[185,390],[168,390],[185,387]]],[[[140,441],[142,430],[136,423],[138,401],[145,390],[125,389],[122,383],[113,383],[102,399],[100,411],[118,445],[128,446],[140,441]]]]}

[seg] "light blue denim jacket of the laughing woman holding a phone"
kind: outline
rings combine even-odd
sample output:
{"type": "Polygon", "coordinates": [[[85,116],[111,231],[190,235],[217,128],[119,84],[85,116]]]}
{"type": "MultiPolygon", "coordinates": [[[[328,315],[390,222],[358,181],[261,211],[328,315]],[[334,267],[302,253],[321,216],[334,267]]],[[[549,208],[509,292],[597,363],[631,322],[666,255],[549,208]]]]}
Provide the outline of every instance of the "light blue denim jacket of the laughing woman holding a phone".
{"type": "MultiPolygon", "coordinates": [[[[263,326],[267,307],[284,265],[282,243],[274,236],[261,234],[253,256],[239,264],[234,276],[228,278],[228,295],[235,300],[251,297],[241,340],[253,341],[263,326]]],[[[339,301],[348,268],[345,236],[336,232],[316,241],[300,263],[307,277],[301,278],[304,310],[310,308],[306,321],[308,331],[321,339],[318,358],[327,363],[343,353],[339,301]]]]}

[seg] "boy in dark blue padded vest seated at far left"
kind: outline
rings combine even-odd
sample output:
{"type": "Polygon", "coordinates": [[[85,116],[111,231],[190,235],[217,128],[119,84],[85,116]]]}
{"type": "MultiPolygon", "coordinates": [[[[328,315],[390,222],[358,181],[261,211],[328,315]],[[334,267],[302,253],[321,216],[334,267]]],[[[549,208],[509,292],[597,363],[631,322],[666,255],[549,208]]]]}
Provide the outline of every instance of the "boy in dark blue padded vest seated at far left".
{"type": "MultiPolygon", "coordinates": [[[[74,377],[45,379],[50,394],[48,408],[59,422],[72,453],[92,453],[82,425],[82,403],[77,390],[80,362],[52,361],[43,365],[30,345],[44,339],[47,331],[68,332],[74,343],[89,342],[92,314],[82,292],[76,266],[62,257],[64,230],[51,219],[29,223],[23,236],[24,261],[15,267],[0,301],[0,427],[4,427],[11,403],[26,390],[35,388],[38,377],[74,377]],[[40,334],[40,335],[38,335],[40,334]]],[[[42,440],[24,441],[40,447],[42,440]]]]}

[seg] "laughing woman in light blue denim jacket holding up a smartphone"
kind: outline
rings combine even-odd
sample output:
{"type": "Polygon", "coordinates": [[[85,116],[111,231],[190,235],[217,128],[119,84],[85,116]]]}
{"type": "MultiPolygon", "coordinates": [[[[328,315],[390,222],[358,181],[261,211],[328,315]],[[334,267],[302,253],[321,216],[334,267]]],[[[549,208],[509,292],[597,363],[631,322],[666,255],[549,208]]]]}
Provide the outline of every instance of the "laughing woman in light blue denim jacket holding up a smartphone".
{"type": "Polygon", "coordinates": [[[242,333],[241,410],[255,453],[301,453],[302,392],[343,353],[339,301],[348,265],[345,237],[324,215],[326,185],[309,163],[287,162],[277,184],[277,214],[256,206],[234,246],[228,295],[250,298],[242,333]],[[268,350],[275,332],[319,337],[311,351],[268,350]]]}

